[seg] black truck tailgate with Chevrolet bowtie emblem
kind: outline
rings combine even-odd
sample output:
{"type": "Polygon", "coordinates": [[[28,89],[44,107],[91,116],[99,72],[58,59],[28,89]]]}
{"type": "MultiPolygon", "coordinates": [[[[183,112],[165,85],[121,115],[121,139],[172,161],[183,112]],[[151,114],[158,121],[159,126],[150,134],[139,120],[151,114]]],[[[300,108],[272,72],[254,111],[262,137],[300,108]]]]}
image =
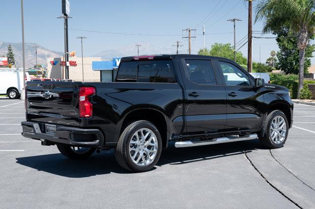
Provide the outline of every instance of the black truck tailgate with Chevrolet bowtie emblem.
{"type": "Polygon", "coordinates": [[[79,126],[78,82],[27,83],[27,120],[79,126]]]}

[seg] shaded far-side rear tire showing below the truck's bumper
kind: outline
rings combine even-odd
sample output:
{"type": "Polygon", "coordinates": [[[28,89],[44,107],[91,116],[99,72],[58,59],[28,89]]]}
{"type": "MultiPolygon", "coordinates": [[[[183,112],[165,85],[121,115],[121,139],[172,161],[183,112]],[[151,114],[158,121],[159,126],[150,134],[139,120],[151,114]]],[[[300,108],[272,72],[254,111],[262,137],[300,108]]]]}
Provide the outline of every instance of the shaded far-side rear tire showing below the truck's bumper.
{"type": "Polygon", "coordinates": [[[75,147],[78,150],[74,150],[73,147],[57,145],[58,150],[65,157],[73,158],[73,159],[85,159],[91,156],[95,152],[95,148],[86,148],[86,147],[75,147]],[[81,151],[80,151],[81,149],[81,151]]]}

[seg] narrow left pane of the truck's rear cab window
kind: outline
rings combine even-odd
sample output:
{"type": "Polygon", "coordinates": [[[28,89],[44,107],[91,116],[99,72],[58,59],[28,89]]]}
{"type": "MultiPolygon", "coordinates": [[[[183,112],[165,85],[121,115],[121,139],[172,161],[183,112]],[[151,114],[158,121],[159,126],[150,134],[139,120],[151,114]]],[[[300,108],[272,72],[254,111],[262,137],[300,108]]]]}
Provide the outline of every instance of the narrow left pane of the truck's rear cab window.
{"type": "Polygon", "coordinates": [[[119,81],[136,81],[138,62],[122,62],[116,80],[119,81]]]}

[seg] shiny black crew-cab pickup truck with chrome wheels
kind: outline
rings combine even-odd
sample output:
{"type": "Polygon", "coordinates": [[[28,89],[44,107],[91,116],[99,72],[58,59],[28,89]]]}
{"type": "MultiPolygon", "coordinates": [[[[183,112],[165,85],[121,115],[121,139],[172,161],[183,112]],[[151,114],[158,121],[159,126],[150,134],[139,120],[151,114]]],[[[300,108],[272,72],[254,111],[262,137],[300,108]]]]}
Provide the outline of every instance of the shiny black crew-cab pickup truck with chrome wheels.
{"type": "Polygon", "coordinates": [[[124,57],[115,82],[27,82],[22,135],[66,157],[115,149],[126,170],[157,163],[169,141],[189,147],[259,138],[284,145],[293,123],[288,89],[235,62],[201,55],[124,57]]]}

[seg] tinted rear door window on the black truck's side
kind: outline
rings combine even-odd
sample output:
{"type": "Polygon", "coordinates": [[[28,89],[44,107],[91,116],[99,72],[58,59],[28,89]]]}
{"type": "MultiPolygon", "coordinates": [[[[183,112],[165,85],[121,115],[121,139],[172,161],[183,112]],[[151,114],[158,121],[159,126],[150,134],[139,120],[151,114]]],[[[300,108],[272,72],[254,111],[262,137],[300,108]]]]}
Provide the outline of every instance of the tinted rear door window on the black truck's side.
{"type": "Polygon", "coordinates": [[[193,83],[217,85],[210,60],[186,59],[187,77],[193,83]]]}

